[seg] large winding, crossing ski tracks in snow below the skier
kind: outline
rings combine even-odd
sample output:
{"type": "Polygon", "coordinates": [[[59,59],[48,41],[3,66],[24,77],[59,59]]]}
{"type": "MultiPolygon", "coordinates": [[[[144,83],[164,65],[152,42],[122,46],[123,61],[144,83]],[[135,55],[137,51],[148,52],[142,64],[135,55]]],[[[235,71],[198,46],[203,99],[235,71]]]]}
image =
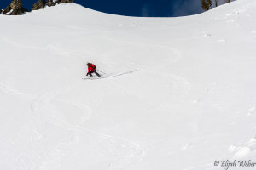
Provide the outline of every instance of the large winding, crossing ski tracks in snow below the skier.
{"type": "Polygon", "coordinates": [[[138,144],[135,141],[131,141],[130,139],[119,138],[82,127],[84,122],[89,121],[90,117],[93,115],[93,111],[89,105],[79,101],[61,99],[61,102],[65,103],[65,105],[73,105],[80,111],[83,111],[83,114],[82,116],[77,117],[78,121],[75,124],[69,123],[68,121],[63,121],[60,117],[58,117],[61,115],[61,112],[55,108],[55,105],[52,105],[52,102],[55,101],[55,98],[58,97],[58,95],[66,94],[73,88],[72,86],[68,86],[66,88],[59,88],[50,91],[49,93],[41,95],[38,97],[38,99],[32,102],[32,112],[38,116],[38,119],[41,122],[49,122],[56,127],[61,127],[65,128],[66,130],[73,131],[74,139],[73,141],[66,141],[57,144],[54,148],[52,148],[50,152],[45,153],[45,159],[41,162],[38,169],[44,169],[44,166],[49,165],[50,162],[61,161],[61,157],[67,156],[68,148],[72,147],[72,144],[79,142],[81,135],[89,135],[91,138],[103,140],[104,142],[102,143],[104,143],[104,145],[112,145],[113,149],[118,147],[120,144],[123,145],[123,150],[113,150],[113,152],[117,152],[116,160],[113,160],[113,162],[110,163],[110,167],[108,167],[108,169],[115,169],[115,167],[125,165],[128,166],[131,165],[132,162],[141,161],[145,154],[141,144],[138,144]]]}

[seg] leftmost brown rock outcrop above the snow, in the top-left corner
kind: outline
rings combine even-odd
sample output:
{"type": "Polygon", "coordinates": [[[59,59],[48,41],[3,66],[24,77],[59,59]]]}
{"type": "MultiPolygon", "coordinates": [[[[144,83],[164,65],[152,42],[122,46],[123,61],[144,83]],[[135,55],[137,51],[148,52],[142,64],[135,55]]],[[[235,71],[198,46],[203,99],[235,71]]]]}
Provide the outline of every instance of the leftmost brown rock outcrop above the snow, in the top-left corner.
{"type": "Polygon", "coordinates": [[[25,8],[23,8],[21,0],[13,0],[7,8],[4,9],[3,14],[10,13],[10,15],[20,15],[24,14],[26,11],[25,8]]]}

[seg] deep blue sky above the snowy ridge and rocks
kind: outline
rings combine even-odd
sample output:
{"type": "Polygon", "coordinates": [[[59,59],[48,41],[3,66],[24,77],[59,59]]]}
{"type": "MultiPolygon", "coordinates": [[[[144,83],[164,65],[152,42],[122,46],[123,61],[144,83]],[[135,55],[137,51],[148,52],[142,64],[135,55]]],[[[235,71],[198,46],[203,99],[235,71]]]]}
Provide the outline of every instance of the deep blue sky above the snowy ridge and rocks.
{"type": "MultiPolygon", "coordinates": [[[[30,9],[38,0],[21,0],[30,9]]],[[[1,0],[0,8],[6,8],[11,0],[1,0]]],[[[200,0],[74,0],[86,8],[110,14],[146,17],[173,17],[201,12],[200,0]]]]}

